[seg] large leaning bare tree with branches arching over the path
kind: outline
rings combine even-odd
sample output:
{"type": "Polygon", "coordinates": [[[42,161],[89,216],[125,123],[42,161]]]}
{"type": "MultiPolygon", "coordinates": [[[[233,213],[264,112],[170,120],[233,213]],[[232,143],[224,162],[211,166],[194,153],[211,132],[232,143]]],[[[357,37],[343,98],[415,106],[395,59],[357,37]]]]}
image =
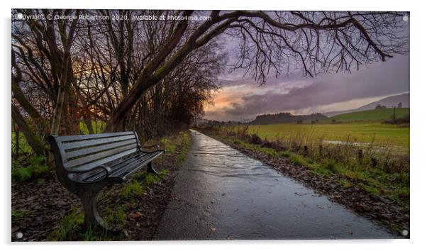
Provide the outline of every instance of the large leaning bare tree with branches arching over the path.
{"type": "MultiPolygon", "coordinates": [[[[265,82],[270,70],[279,74],[301,65],[305,74],[350,71],[363,63],[404,53],[403,13],[392,12],[271,12],[211,11],[204,22],[189,23],[194,11],[182,11],[182,21],[150,59],[129,93],[111,114],[106,130],[119,130],[129,111],[193,50],[223,33],[240,38],[235,68],[246,69],[265,82]]],[[[200,14],[200,13],[199,13],[200,14]]]]}

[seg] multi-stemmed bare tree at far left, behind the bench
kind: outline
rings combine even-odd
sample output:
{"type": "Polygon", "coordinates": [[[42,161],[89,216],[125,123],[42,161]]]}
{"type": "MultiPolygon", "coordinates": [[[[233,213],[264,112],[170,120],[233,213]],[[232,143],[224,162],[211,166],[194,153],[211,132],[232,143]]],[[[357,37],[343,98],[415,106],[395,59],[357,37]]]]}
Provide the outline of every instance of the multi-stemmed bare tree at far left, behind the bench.
{"type": "MultiPolygon", "coordinates": [[[[42,10],[42,11],[30,11],[23,10],[22,13],[31,15],[40,15],[43,13],[45,16],[48,15],[70,15],[71,13],[79,14],[79,10],[42,10]]],[[[50,134],[57,134],[60,128],[60,121],[62,117],[62,110],[64,109],[65,94],[70,91],[70,84],[74,80],[74,74],[72,72],[72,58],[71,48],[74,40],[74,35],[77,28],[77,19],[74,19],[70,23],[65,20],[47,19],[44,22],[35,20],[28,20],[27,26],[19,31],[16,27],[12,33],[12,39],[15,43],[12,43],[12,47],[19,53],[20,59],[23,64],[28,66],[28,77],[30,79],[35,78],[35,83],[49,93],[48,96],[53,99],[55,108],[53,111],[52,125],[50,126],[50,134]],[[27,36],[28,35],[28,36],[27,36]],[[32,38],[32,39],[31,39],[32,38]],[[37,53],[36,57],[34,52],[37,53]],[[48,62],[48,65],[46,64],[48,62]]],[[[14,59],[12,59],[14,60],[14,59]]],[[[16,64],[15,64],[16,65],[16,64]]],[[[14,67],[17,69],[17,67],[14,67]]],[[[16,70],[18,76],[21,74],[16,70]]],[[[18,97],[19,89],[16,88],[18,85],[16,81],[21,77],[14,78],[15,87],[13,94],[18,97]]],[[[70,96],[68,96],[70,98],[70,96]]],[[[17,98],[21,105],[26,110],[33,110],[28,104],[21,98],[17,98]]],[[[38,116],[33,111],[30,111],[31,115],[38,116]]]]}

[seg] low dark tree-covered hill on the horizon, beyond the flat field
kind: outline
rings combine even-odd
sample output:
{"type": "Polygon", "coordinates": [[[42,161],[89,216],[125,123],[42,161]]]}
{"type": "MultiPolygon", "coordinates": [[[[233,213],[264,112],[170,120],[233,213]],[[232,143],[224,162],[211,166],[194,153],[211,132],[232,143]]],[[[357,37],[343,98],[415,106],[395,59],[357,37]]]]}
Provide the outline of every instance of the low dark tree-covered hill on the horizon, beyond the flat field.
{"type": "Polygon", "coordinates": [[[252,125],[270,125],[277,123],[291,123],[297,121],[321,121],[328,117],[321,113],[313,113],[310,115],[292,115],[291,113],[275,113],[275,114],[263,114],[257,116],[252,125]]]}

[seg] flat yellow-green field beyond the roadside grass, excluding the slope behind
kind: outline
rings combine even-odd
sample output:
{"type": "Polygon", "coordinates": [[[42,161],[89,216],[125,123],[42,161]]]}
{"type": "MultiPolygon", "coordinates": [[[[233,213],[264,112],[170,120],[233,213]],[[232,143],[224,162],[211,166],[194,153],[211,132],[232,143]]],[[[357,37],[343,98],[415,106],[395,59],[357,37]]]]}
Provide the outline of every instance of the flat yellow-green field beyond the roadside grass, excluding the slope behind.
{"type": "Polygon", "coordinates": [[[409,150],[409,127],[388,125],[380,122],[354,123],[282,123],[273,125],[250,125],[251,133],[268,140],[321,141],[340,140],[351,143],[397,146],[409,150]]]}

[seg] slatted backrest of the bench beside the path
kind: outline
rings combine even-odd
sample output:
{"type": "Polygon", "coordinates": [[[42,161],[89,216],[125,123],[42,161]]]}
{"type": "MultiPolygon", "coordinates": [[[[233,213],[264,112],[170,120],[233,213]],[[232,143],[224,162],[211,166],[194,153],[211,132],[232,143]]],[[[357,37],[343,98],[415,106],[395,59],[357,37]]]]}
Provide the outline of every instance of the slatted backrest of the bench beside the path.
{"type": "Polygon", "coordinates": [[[87,172],[136,152],[140,146],[133,131],[50,136],[49,142],[54,151],[60,152],[62,166],[69,172],[87,172]]]}

